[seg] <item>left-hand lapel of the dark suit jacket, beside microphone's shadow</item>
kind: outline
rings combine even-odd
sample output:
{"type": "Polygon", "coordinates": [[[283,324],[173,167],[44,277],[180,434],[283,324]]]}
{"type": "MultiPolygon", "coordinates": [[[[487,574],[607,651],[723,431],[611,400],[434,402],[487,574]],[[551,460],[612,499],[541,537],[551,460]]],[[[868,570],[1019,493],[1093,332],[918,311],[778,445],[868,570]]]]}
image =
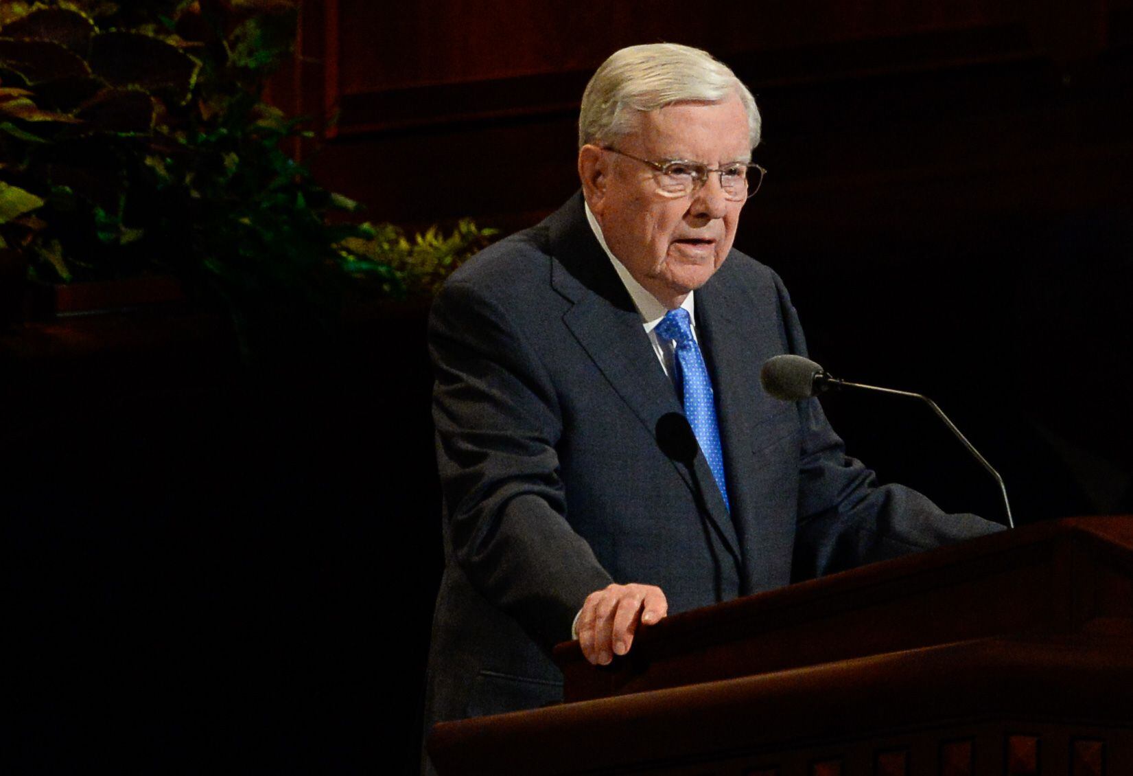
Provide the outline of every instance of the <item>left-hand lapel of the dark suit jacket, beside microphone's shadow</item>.
{"type": "MultiPolygon", "coordinates": [[[[555,213],[548,226],[552,255],[559,262],[553,264],[552,285],[573,302],[563,317],[564,323],[617,395],[655,436],[662,415],[683,414],[684,408],[657,362],[629,292],[594,237],[582,210],[581,195],[555,213]]],[[[695,478],[684,464],[672,463],[693,492],[697,482],[714,482],[702,454],[693,461],[695,478]]],[[[741,567],[740,543],[719,489],[706,487],[700,491],[715,533],[736,567],[741,567]]]]}

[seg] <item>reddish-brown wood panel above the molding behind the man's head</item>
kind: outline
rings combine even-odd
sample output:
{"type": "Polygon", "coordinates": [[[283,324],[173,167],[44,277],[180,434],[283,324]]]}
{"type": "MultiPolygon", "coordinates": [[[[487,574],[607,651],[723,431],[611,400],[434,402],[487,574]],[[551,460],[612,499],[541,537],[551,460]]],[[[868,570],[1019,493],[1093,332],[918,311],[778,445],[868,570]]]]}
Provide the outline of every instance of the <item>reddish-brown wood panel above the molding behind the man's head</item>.
{"type": "Polygon", "coordinates": [[[1028,3],[837,3],[725,0],[690,14],[679,0],[337,0],[343,94],[593,70],[615,49],[674,41],[719,56],[1019,23],[1028,3]]]}

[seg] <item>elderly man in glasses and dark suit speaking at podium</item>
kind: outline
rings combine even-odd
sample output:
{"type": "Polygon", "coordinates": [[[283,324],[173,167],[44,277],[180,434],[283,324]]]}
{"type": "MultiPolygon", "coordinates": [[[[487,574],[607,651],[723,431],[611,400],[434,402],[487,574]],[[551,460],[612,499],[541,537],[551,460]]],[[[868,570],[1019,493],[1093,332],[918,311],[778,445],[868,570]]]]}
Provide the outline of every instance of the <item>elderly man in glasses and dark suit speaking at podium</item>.
{"type": "Polygon", "coordinates": [[[437,298],[427,722],[560,699],[547,653],[572,626],[605,664],[666,613],[996,530],[879,487],[817,400],[760,388],[806,345],[778,277],[732,250],[759,128],[707,53],[616,52],[582,98],[581,193],[437,298]]]}

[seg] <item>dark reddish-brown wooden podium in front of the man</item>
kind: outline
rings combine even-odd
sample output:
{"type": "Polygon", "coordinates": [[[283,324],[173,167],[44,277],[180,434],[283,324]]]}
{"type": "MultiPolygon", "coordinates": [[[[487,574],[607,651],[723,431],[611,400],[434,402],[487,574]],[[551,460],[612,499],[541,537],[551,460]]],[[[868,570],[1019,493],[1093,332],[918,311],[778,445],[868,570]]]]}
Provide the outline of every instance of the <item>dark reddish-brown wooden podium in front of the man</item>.
{"type": "Polygon", "coordinates": [[[1033,525],[668,617],[563,705],[443,723],[458,774],[1133,776],[1133,517],[1033,525]]]}

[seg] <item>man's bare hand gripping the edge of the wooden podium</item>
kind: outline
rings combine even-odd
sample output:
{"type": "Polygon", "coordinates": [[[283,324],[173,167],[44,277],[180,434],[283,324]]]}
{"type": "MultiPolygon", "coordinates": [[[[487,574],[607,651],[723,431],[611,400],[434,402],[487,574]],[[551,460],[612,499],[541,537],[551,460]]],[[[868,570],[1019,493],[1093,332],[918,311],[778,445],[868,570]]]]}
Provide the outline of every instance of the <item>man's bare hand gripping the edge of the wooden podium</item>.
{"type": "Polygon", "coordinates": [[[586,597],[578,615],[578,641],[594,665],[625,655],[638,624],[654,625],[668,614],[665,593],[651,584],[611,584],[586,597]]]}

